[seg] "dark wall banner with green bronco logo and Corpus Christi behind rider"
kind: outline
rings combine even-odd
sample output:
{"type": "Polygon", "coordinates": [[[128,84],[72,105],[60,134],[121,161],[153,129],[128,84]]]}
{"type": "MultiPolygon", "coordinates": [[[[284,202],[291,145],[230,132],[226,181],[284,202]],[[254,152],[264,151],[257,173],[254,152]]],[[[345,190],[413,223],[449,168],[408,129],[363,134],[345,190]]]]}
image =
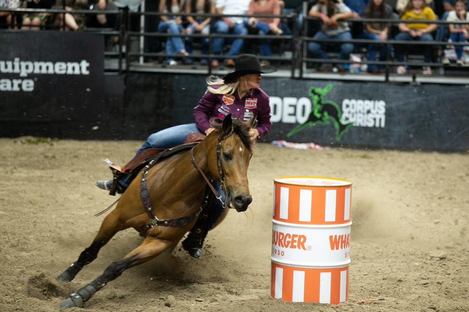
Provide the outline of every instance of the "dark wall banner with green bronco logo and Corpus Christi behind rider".
{"type": "MultiPolygon", "coordinates": [[[[161,93],[151,106],[164,104],[165,116],[171,110],[172,125],[193,122],[192,108],[205,92],[205,77],[152,75],[152,80],[155,76],[161,79],[161,93]]],[[[265,75],[261,87],[270,96],[273,121],[264,141],[469,150],[469,88],[465,86],[296,80],[265,75]]],[[[128,88],[134,90],[130,85],[128,88]]],[[[141,122],[145,123],[144,119],[141,122]]],[[[149,127],[160,129],[157,125],[149,127]]]]}

